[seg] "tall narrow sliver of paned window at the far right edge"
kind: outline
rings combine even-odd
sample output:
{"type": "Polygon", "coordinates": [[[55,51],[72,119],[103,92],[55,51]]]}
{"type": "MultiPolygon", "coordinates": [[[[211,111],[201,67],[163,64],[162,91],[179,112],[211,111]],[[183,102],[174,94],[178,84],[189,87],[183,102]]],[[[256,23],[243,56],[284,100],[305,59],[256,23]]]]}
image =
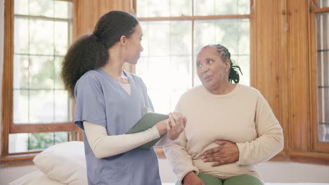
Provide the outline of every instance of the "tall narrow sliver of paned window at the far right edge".
{"type": "Polygon", "coordinates": [[[329,142],[329,13],[316,15],[318,138],[329,142]]]}

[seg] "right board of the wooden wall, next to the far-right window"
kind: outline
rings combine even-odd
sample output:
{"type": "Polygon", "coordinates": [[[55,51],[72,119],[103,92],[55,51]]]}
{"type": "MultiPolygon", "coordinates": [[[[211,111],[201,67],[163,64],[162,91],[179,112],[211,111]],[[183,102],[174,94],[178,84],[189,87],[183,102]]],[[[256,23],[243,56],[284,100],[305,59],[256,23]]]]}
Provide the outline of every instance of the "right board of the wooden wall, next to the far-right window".
{"type": "Polygon", "coordinates": [[[308,1],[288,1],[290,150],[310,149],[308,1]],[[303,21],[301,21],[303,20],[303,21]]]}

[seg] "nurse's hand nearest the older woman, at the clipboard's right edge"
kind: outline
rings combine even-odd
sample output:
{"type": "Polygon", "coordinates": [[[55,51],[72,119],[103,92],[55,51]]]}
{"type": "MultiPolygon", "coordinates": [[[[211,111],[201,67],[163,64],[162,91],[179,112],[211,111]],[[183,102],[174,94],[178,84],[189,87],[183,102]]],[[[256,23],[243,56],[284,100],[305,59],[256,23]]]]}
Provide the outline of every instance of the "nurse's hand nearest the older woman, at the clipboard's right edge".
{"type": "Polygon", "coordinates": [[[179,112],[169,114],[169,125],[167,126],[167,138],[170,140],[177,139],[185,129],[187,119],[179,112]]]}

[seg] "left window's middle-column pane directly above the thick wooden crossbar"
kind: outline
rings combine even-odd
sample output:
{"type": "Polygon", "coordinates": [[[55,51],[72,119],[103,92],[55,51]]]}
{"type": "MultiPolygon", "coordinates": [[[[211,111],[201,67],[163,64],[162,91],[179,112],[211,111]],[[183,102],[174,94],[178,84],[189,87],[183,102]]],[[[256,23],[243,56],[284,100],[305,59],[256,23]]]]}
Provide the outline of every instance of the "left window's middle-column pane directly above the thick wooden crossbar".
{"type": "Polygon", "coordinates": [[[54,122],[53,90],[30,90],[29,123],[54,122]]]}

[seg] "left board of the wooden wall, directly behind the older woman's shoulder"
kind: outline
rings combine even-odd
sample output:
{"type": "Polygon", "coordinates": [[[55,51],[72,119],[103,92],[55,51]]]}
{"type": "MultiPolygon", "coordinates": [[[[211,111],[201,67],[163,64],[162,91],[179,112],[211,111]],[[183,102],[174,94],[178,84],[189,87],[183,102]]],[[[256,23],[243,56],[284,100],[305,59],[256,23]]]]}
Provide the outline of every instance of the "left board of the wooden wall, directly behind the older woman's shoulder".
{"type": "Polygon", "coordinates": [[[256,3],[255,20],[257,25],[254,28],[257,33],[255,38],[256,60],[254,61],[254,84],[252,84],[266,97],[276,115],[279,113],[279,83],[276,78],[278,76],[277,61],[280,60],[280,55],[278,55],[280,29],[277,16],[279,11],[276,1],[257,1],[256,3]],[[261,9],[262,11],[259,11],[261,9]]]}

